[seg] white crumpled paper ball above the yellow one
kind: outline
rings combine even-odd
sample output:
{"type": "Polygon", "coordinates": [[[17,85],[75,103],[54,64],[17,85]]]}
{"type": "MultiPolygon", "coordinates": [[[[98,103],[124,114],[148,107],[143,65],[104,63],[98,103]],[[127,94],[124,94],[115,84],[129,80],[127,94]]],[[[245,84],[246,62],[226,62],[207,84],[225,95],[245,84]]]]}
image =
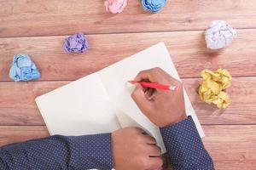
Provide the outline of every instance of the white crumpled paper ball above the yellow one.
{"type": "Polygon", "coordinates": [[[236,30],[224,20],[214,20],[205,32],[207,48],[220,49],[228,46],[236,37],[236,30]]]}

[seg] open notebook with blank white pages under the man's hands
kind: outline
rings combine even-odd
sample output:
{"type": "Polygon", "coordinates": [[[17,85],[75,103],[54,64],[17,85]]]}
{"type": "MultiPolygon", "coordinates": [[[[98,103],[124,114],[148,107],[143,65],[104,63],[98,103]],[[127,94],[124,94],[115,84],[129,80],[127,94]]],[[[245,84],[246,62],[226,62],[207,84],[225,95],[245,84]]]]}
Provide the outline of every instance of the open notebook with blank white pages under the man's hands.
{"type": "MultiPolygon", "coordinates": [[[[131,99],[128,80],[139,71],[160,67],[179,79],[165,43],[110,65],[102,71],[80,78],[36,99],[49,133],[84,135],[111,133],[120,127],[143,127],[166,152],[160,130],[138,109],[131,99]]],[[[186,112],[192,116],[201,137],[204,136],[195,111],[184,92],[186,112]]]]}

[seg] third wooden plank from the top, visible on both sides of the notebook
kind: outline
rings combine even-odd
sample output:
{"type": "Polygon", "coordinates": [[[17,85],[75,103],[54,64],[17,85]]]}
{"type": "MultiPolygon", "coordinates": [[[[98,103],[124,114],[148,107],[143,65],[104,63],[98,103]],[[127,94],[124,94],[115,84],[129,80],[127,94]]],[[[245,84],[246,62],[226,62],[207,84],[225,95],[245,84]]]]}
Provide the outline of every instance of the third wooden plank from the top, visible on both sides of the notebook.
{"type": "MultiPolygon", "coordinates": [[[[67,83],[0,82],[0,125],[44,125],[34,99],[67,83]]],[[[228,88],[232,105],[226,110],[199,99],[200,79],[183,79],[183,83],[202,124],[256,123],[256,77],[234,78],[233,86],[228,88]]]]}

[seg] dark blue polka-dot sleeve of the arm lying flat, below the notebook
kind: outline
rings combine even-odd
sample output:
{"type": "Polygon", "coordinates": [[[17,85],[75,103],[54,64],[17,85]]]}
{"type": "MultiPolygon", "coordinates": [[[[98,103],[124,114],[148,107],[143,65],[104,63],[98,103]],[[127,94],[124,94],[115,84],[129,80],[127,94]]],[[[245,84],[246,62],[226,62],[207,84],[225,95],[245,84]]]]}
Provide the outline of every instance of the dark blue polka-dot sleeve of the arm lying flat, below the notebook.
{"type": "Polygon", "coordinates": [[[0,148],[1,170],[110,170],[111,134],[51,136],[0,148]]]}

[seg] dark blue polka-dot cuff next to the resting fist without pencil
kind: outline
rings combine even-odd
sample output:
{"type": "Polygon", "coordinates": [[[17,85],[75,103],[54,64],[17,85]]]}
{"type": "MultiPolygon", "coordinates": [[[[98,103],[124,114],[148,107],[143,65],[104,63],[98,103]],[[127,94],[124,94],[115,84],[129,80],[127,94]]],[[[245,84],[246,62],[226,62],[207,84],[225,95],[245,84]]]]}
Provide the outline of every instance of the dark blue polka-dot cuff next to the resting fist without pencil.
{"type": "Polygon", "coordinates": [[[68,138],[73,150],[70,163],[73,169],[87,167],[110,170],[113,168],[111,133],[78,136],[68,138]]]}

